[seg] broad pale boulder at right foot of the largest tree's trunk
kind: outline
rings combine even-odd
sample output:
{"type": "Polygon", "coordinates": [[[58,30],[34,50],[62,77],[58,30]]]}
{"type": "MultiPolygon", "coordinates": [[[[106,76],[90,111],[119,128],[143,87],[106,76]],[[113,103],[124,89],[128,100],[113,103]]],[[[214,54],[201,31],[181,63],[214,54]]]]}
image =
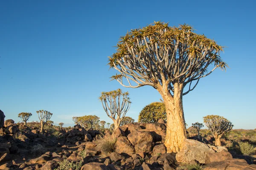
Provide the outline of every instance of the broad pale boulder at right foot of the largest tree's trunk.
{"type": "Polygon", "coordinates": [[[205,164],[207,153],[221,152],[224,149],[227,150],[225,147],[212,147],[196,140],[185,139],[183,147],[176,154],[176,159],[181,163],[189,163],[192,160],[196,160],[201,164],[205,164]]]}

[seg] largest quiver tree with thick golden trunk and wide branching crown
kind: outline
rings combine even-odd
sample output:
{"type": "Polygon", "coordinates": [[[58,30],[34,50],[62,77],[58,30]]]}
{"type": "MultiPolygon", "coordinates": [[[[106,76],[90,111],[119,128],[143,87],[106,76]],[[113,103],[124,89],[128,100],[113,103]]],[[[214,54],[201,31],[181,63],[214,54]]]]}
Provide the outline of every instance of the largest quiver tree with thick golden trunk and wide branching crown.
{"type": "Polygon", "coordinates": [[[167,113],[168,153],[179,151],[187,138],[182,96],[216,68],[226,68],[218,56],[222,48],[214,40],[195,34],[191,26],[169,27],[168,23],[155,22],[121,37],[117,52],[109,57],[108,65],[120,72],[112,79],[124,87],[150,85],[162,96],[167,113]]]}

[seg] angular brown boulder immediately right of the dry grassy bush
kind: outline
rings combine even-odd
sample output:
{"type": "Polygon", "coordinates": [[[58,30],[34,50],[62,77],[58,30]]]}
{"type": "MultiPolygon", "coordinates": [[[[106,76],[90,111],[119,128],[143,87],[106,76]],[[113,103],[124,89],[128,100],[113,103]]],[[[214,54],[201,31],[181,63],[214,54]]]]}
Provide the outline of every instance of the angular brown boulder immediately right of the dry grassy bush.
{"type": "Polygon", "coordinates": [[[135,151],[134,146],[125,136],[120,136],[117,138],[117,141],[116,141],[117,153],[132,153],[134,151],[135,151]]]}

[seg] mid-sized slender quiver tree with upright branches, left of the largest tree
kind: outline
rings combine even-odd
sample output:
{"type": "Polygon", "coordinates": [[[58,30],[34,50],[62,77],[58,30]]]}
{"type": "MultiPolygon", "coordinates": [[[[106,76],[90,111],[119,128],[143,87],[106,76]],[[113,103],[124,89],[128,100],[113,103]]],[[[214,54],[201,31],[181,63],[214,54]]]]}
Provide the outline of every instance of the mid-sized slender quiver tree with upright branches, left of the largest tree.
{"type": "Polygon", "coordinates": [[[131,106],[128,91],[122,93],[121,89],[117,89],[114,91],[102,92],[99,99],[101,100],[102,106],[108,117],[113,120],[114,130],[116,130],[131,106]]]}

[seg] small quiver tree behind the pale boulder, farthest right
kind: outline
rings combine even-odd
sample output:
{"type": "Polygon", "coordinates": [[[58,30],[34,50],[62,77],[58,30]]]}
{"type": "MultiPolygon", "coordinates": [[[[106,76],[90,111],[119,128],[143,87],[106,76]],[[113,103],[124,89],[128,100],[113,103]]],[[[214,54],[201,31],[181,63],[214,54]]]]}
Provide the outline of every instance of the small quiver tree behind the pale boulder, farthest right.
{"type": "Polygon", "coordinates": [[[234,126],[229,120],[218,115],[205,116],[204,123],[215,138],[215,146],[221,146],[221,137],[234,126]]]}

